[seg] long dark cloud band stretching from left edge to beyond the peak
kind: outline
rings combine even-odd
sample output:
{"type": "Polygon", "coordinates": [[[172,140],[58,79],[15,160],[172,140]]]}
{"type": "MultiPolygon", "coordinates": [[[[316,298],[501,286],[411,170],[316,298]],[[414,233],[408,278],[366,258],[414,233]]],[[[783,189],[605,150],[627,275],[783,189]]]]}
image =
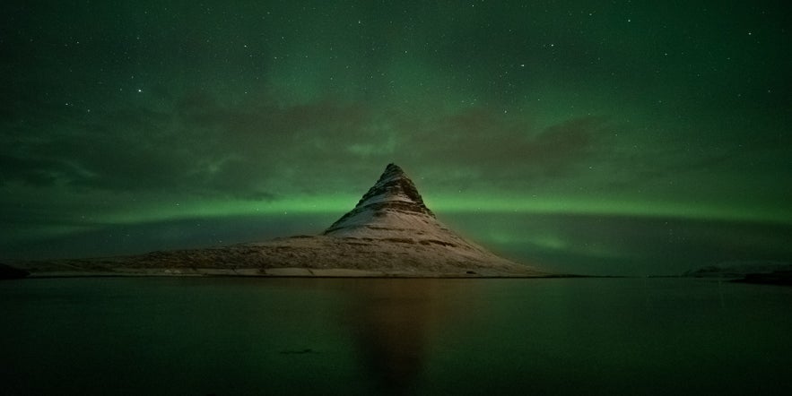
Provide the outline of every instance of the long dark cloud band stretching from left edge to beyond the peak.
{"type": "Polygon", "coordinates": [[[434,114],[331,98],[284,105],[267,94],[223,103],[208,90],[160,90],[164,106],[120,102],[93,114],[32,100],[53,123],[11,126],[3,183],[271,200],[363,188],[370,180],[353,175],[395,160],[440,186],[481,176],[515,187],[574,176],[607,150],[612,127],[595,116],[540,127],[486,107],[434,114]]]}

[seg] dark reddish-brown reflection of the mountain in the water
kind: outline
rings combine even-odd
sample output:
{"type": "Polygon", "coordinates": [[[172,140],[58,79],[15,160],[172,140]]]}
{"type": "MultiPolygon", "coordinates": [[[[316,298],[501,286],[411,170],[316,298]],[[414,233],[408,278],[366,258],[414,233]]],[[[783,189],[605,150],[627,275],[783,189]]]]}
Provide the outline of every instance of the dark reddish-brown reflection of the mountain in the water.
{"type": "Polygon", "coordinates": [[[431,337],[453,316],[459,285],[449,280],[356,280],[348,319],[379,393],[409,393],[420,379],[431,337]]]}

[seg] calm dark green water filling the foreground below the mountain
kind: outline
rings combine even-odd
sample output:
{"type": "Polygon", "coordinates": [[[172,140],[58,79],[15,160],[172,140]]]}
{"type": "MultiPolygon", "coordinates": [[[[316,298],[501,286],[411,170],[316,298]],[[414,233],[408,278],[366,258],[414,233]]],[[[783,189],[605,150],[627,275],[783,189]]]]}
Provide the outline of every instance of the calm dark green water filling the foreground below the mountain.
{"type": "Polygon", "coordinates": [[[711,280],[14,280],[0,318],[4,394],[792,394],[792,288],[711,280]]]}

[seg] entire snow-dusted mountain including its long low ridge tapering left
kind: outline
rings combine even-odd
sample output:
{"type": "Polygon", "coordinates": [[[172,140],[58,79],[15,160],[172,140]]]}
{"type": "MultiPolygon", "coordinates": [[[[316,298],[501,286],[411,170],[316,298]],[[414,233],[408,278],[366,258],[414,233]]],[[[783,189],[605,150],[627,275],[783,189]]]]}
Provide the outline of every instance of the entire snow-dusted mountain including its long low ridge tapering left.
{"type": "Polygon", "coordinates": [[[545,277],[460,237],[423,203],[395,164],[321,235],[131,256],[11,263],[18,278],[239,275],[318,277],[545,277]]]}

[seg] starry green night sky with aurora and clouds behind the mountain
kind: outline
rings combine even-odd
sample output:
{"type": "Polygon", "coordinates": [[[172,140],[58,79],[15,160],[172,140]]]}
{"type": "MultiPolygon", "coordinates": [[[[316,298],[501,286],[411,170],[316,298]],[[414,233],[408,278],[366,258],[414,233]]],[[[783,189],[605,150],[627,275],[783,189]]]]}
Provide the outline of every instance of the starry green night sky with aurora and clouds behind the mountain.
{"type": "Polygon", "coordinates": [[[0,261],[317,234],[396,162],[553,271],[792,262],[785,2],[0,12],[0,261]]]}

